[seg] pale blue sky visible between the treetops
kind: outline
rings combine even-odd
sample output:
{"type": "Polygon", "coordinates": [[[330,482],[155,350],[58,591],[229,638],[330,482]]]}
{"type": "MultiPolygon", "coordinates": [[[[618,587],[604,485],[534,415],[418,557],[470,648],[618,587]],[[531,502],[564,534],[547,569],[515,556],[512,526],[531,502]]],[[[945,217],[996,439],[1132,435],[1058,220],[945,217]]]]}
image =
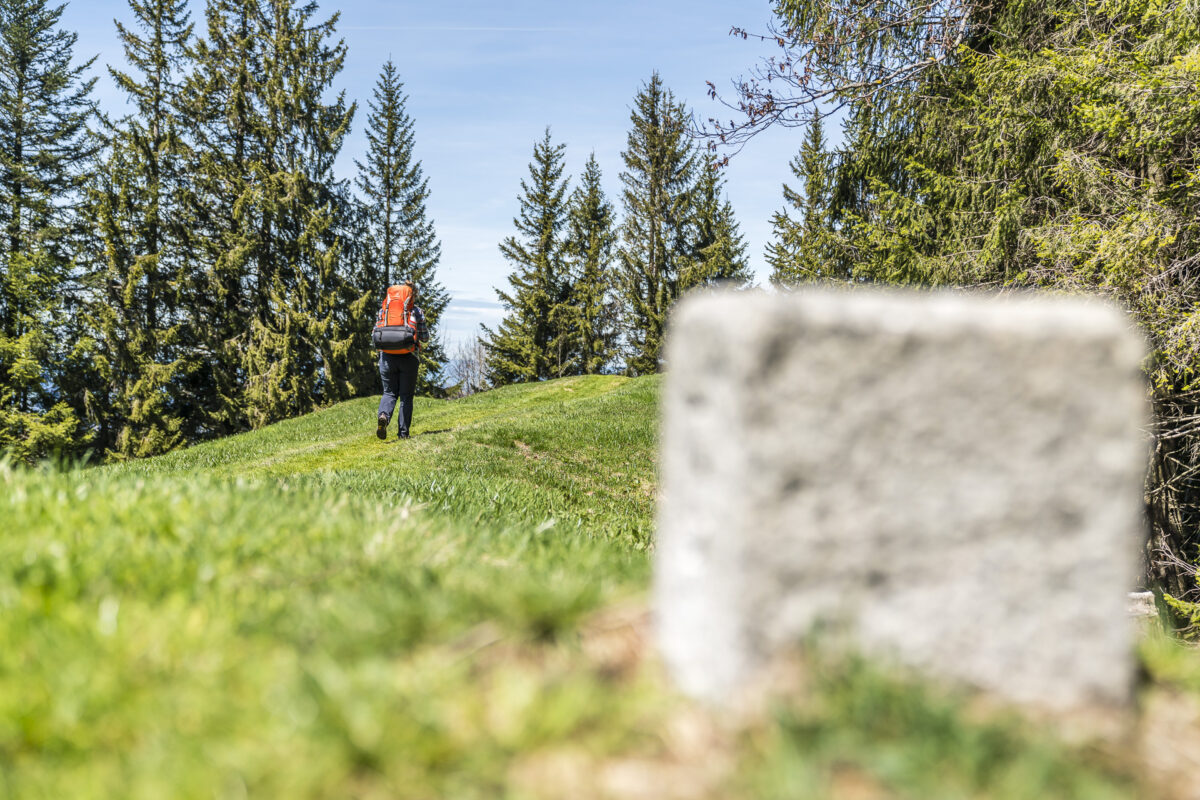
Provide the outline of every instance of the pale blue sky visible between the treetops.
{"type": "MultiPolygon", "coordinates": [[[[191,0],[203,32],[203,0],[191,0]]],[[[655,70],[697,116],[728,116],[707,98],[706,80],[728,89],[763,54],[734,40],[731,26],[763,30],[768,0],[508,0],[322,2],[322,18],[341,11],[349,53],[338,88],[359,101],[354,130],[338,160],[353,176],[362,158],[366,101],[390,58],[408,95],[416,156],[430,181],[428,213],[442,240],[438,277],[451,294],[443,336],[451,354],[480,323],[503,315],[496,287],[511,271],[497,246],[512,233],[520,181],[546,126],[566,144],[566,170],[582,172],[595,152],[610,200],[620,207],[620,152],[634,96],[655,70]]],[[[113,19],[131,18],[125,0],[68,0],[66,29],[79,34],[78,58],[98,55],[97,96],[119,113],[124,97],[106,64],[124,64],[113,19]]],[[[800,131],[768,131],[726,170],[728,198],[760,282],[770,215],[791,178],[800,131]]]]}

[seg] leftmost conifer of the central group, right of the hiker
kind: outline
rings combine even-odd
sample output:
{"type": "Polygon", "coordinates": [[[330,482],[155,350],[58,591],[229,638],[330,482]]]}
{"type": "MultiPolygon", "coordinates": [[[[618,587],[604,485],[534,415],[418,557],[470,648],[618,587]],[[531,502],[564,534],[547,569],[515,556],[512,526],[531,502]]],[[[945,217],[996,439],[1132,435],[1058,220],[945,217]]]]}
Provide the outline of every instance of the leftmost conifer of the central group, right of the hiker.
{"type": "Polygon", "coordinates": [[[500,243],[512,264],[509,291],[497,289],[508,314],[497,331],[484,327],[487,374],[492,385],[542,380],[568,374],[576,350],[570,337],[570,282],[560,231],[566,221],[563,151],[550,128],[533,149],[529,180],[521,181],[517,234],[500,243]]]}

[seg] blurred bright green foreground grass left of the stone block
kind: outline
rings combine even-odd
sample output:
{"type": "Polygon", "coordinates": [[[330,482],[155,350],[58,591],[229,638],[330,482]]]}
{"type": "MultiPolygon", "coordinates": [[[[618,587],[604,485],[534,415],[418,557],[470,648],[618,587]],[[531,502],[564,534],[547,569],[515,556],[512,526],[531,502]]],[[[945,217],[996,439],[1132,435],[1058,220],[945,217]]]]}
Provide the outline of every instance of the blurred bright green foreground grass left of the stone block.
{"type": "Polygon", "coordinates": [[[496,796],[514,752],[626,714],[587,675],[472,680],[472,648],[565,639],[641,583],[606,543],[328,489],[4,488],[23,533],[0,540],[0,795],[496,796]]]}

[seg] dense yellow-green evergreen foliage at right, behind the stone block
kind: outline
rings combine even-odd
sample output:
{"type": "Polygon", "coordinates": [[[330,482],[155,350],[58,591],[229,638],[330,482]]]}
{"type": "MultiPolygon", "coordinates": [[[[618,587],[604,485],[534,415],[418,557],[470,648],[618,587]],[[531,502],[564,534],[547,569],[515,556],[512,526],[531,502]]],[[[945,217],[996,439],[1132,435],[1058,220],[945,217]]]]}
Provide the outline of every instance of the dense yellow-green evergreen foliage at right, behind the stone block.
{"type": "Polygon", "coordinates": [[[1159,419],[1150,560],[1175,593],[1200,545],[1195,19],[1141,0],[989,14],[950,74],[863,113],[856,155],[905,161],[856,158],[845,203],[870,277],[1098,291],[1140,321],[1159,419]]]}

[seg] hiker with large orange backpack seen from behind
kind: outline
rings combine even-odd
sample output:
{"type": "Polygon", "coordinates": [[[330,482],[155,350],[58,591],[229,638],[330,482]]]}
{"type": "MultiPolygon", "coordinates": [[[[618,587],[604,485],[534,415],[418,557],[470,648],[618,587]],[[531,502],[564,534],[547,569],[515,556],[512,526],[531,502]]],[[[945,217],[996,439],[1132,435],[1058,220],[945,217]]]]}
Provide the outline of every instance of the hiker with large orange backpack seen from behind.
{"type": "Polygon", "coordinates": [[[412,281],[388,287],[371,339],[379,350],[379,378],[383,379],[376,435],[388,438],[388,423],[400,401],[397,435],[407,439],[413,423],[413,392],[416,391],[416,368],[420,365],[418,353],[421,342],[430,341],[430,329],[424,312],[416,307],[416,287],[412,281]]]}

